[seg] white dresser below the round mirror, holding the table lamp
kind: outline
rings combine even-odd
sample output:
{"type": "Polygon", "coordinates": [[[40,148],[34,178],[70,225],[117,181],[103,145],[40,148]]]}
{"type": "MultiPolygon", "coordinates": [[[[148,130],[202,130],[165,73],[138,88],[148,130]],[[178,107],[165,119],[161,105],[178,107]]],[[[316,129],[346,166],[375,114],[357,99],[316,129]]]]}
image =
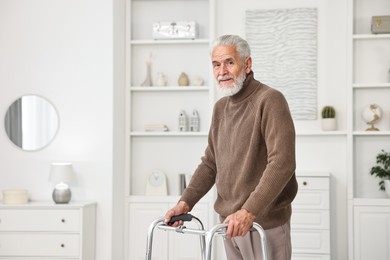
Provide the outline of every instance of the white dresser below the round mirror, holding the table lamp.
{"type": "Polygon", "coordinates": [[[1,260],[95,259],[96,203],[0,205],[1,260]]]}

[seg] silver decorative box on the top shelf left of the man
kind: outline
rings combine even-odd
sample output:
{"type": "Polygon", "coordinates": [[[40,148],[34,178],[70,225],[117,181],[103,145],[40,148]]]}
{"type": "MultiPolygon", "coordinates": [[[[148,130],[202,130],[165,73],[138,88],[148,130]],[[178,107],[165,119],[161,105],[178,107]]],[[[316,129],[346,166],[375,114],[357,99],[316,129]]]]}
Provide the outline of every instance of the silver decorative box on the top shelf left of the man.
{"type": "Polygon", "coordinates": [[[195,21],[172,21],[153,23],[153,39],[196,39],[199,37],[198,24],[195,21]]]}

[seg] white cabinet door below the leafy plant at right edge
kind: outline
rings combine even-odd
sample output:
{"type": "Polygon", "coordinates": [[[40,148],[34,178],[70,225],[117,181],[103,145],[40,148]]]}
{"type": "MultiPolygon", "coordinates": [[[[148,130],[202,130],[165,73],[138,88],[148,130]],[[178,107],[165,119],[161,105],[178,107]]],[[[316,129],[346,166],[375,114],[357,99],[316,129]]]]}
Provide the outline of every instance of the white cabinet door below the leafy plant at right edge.
{"type": "Polygon", "coordinates": [[[390,259],[390,202],[354,207],[354,260],[390,259]]]}

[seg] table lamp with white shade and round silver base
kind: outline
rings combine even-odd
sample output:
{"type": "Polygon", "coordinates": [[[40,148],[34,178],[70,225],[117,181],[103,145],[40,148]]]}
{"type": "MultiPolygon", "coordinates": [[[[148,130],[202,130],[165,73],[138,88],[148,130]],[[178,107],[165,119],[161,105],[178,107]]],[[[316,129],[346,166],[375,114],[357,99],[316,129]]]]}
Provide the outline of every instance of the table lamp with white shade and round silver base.
{"type": "Polygon", "coordinates": [[[52,163],[50,167],[49,181],[53,184],[53,200],[56,204],[69,203],[72,192],[69,184],[73,182],[72,163],[52,163]]]}

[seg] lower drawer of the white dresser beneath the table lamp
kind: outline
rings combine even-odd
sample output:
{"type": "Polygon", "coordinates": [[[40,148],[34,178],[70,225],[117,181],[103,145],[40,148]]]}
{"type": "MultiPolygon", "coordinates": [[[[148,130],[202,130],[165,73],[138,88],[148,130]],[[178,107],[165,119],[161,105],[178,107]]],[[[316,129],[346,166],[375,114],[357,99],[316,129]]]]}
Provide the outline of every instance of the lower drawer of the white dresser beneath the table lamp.
{"type": "Polygon", "coordinates": [[[78,234],[0,233],[0,256],[78,257],[78,234]]]}

